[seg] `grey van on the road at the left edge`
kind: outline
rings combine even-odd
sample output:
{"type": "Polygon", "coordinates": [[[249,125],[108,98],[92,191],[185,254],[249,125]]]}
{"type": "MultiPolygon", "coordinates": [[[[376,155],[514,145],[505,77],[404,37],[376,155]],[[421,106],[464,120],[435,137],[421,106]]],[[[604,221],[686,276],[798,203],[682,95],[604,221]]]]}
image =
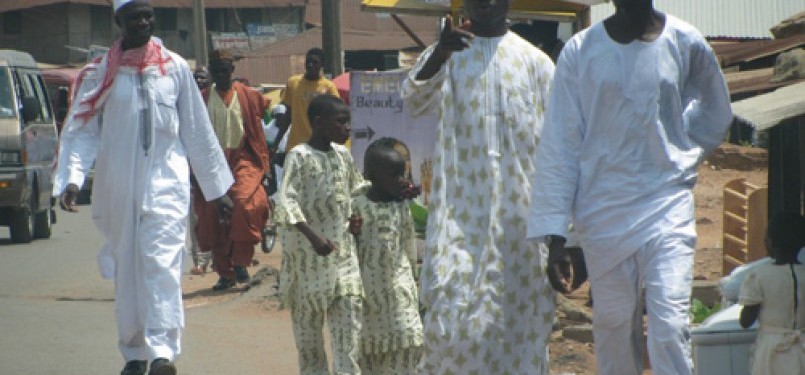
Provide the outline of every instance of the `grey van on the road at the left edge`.
{"type": "Polygon", "coordinates": [[[50,237],[57,137],[36,61],[0,50],[0,225],[10,227],[12,242],[50,237]]]}

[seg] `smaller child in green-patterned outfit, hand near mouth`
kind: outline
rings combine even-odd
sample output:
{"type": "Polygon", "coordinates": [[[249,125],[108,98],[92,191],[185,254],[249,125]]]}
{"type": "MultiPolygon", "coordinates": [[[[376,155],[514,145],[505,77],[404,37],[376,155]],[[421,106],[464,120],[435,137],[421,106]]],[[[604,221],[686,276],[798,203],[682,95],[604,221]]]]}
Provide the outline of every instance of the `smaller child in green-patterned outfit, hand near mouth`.
{"type": "Polygon", "coordinates": [[[363,306],[361,369],[372,375],[411,375],[422,356],[414,222],[405,198],[412,198],[400,141],[381,138],[366,149],[365,194],[353,200],[363,222],[357,235],[363,306]]]}

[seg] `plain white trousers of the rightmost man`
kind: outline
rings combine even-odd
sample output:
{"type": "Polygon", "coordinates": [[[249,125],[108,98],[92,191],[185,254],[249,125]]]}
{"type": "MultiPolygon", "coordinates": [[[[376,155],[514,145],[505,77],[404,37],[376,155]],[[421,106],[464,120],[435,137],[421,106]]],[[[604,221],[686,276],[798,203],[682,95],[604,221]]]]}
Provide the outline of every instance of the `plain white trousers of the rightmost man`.
{"type": "Polygon", "coordinates": [[[642,288],[646,292],[653,373],[692,374],[688,312],[695,244],[695,237],[661,236],[591,280],[598,374],[642,373],[642,288]]]}

